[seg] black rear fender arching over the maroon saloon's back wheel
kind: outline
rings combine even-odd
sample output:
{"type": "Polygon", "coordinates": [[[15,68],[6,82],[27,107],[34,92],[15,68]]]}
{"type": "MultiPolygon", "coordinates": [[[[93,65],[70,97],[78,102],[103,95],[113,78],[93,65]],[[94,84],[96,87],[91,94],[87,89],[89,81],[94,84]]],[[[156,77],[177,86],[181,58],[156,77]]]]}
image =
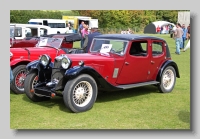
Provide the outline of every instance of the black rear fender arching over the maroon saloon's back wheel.
{"type": "Polygon", "coordinates": [[[178,69],[177,64],[173,60],[167,60],[165,63],[163,63],[163,65],[161,66],[161,68],[158,72],[157,79],[156,79],[157,81],[160,81],[163,71],[168,66],[174,67],[174,69],[176,71],[176,77],[180,78],[179,69],[178,69]]]}

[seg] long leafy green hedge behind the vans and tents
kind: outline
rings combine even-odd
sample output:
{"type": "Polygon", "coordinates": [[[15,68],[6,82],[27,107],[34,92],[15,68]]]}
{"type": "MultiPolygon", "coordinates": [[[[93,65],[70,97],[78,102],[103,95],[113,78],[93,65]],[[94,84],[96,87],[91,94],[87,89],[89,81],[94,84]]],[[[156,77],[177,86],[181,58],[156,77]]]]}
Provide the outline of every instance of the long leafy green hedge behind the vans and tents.
{"type": "Polygon", "coordinates": [[[63,15],[90,16],[98,19],[100,28],[141,28],[157,20],[176,23],[178,10],[11,10],[10,23],[27,23],[31,18],[62,19],[63,15]]]}

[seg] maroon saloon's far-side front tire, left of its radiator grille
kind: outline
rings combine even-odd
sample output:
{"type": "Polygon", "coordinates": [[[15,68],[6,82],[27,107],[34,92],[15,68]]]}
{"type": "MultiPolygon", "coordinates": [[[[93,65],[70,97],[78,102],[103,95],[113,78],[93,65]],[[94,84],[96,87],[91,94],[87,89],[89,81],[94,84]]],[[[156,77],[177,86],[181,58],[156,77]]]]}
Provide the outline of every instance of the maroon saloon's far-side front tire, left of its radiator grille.
{"type": "Polygon", "coordinates": [[[48,97],[39,97],[39,96],[35,95],[34,92],[31,92],[33,83],[34,83],[34,81],[36,81],[36,78],[37,78],[37,74],[35,72],[32,72],[27,75],[25,82],[24,82],[24,86],[25,86],[24,90],[25,90],[26,96],[33,102],[49,100],[50,98],[48,98],[48,97]]]}

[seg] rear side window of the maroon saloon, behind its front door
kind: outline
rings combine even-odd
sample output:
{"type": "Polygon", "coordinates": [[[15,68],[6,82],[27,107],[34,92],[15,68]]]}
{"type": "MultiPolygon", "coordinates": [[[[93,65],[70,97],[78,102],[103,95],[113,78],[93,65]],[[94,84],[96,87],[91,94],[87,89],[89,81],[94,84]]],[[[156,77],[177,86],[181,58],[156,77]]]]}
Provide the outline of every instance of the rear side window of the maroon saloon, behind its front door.
{"type": "Polygon", "coordinates": [[[163,43],[162,42],[153,42],[152,43],[152,55],[158,56],[163,54],[163,43]]]}

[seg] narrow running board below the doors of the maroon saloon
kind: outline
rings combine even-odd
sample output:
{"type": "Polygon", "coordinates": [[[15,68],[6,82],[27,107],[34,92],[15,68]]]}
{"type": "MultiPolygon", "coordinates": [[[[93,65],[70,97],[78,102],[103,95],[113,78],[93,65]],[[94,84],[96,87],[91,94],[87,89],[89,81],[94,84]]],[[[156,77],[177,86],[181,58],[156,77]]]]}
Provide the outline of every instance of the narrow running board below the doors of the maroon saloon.
{"type": "Polygon", "coordinates": [[[140,87],[140,86],[146,86],[146,85],[152,85],[152,84],[158,84],[158,83],[160,83],[160,82],[150,81],[150,82],[137,83],[137,84],[118,85],[116,87],[121,88],[121,89],[130,89],[130,88],[135,88],[135,87],[140,87]]]}

